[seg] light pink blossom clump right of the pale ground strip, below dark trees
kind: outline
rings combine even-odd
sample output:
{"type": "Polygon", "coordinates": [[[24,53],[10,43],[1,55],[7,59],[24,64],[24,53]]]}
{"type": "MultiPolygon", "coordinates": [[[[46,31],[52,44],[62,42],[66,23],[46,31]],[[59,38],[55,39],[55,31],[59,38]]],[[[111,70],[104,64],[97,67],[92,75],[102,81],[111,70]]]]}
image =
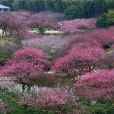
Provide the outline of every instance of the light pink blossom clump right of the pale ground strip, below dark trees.
{"type": "MultiPolygon", "coordinates": [[[[85,29],[95,29],[95,19],[75,19],[63,21],[61,30],[66,33],[83,33],[85,29]]],[[[61,23],[59,23],[60,25],[61,23]]]]}

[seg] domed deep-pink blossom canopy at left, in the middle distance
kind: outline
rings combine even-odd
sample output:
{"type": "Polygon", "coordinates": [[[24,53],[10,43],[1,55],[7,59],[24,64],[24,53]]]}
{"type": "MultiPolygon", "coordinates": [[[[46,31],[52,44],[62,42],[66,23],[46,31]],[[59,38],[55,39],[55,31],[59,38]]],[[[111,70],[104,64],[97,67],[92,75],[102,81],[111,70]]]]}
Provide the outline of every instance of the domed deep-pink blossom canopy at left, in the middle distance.
{"type": "Polygon", "coordinates": [[[19,82],[29,82],[33,77],[47,70],[49,66],[50,62],[41,50],[24,48],[14,52],[13,58],[6,62],[1,74],[11,76],[19,82]]]}

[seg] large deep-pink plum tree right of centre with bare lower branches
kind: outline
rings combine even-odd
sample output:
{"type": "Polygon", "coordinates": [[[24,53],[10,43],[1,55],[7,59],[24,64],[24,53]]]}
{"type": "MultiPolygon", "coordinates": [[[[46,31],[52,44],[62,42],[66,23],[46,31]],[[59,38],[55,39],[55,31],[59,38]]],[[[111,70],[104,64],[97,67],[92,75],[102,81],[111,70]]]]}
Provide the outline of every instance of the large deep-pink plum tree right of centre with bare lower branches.
{"type": "Polygon", "coordinates": [[[55,61],[53,69],[67,73],[74,72],[75,75],[81,76],[85,72],[92,71],[97,61],[104,55],[105,52],[100,47],[91,47],[89,43],[74,44],[64,57],[55,61]]]}

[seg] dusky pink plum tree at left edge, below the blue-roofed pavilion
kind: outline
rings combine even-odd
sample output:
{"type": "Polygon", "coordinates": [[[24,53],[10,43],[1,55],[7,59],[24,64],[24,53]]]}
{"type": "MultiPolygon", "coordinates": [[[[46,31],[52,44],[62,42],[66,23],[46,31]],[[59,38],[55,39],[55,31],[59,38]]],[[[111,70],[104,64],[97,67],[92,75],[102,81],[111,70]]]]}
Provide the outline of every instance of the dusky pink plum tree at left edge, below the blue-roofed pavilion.
{"type": "Polygon", "coordinates": [[[12,13],[2,13],[0,15],[2,35],[17,35],[20,38],[25,38],[30,35],[28,32],[28,22],[16,17],[16,15],[12,13]]]}

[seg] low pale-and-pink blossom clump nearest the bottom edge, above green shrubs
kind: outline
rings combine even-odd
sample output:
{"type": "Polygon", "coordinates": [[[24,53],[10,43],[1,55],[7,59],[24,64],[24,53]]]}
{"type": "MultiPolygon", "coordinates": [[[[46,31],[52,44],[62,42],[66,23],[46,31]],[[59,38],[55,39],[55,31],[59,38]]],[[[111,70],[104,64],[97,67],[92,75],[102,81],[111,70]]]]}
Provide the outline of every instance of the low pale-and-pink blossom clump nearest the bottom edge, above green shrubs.
{"type": "Polygon", "coordinates": [[[66,90],[45,89],[39,90],[34,94],[24,94],[20,103],[27,106],[53,107],[65,105],[68,102],[70,94],[66,90]]]}

